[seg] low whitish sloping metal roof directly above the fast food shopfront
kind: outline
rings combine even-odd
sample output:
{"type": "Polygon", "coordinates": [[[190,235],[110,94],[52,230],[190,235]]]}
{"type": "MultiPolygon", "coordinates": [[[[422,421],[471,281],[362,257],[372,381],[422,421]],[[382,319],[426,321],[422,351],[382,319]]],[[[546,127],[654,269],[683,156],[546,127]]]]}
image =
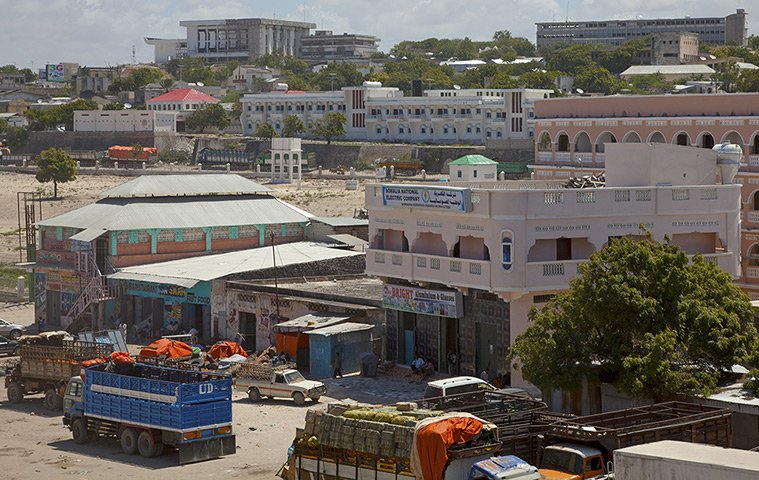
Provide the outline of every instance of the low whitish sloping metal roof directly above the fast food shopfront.
{"type": "Polygon", "coordinates": [[[274,256],[277,258],[277,267],[282,267],[332,258],[363,255],[361,252],[328,248],[324,244],[312,242],[283,243],[282,245],[276,245],[274,249],[274,254],[272,254],[272,247],[267,246],[216,255],[201,255],[168,262],[136,265],[123,268],[109,275],[109,278],[128,278],[130,280],[142,280],[152,283],[177,284],[178,279],[210,281],[235,273],[272,268],[274,266],[274,256]]]}

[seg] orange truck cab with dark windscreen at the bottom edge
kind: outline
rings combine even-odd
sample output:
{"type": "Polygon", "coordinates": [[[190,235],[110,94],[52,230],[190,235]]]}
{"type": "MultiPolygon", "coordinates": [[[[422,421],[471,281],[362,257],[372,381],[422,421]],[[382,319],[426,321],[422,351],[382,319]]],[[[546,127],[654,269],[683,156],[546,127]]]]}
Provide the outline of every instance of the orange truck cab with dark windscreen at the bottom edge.
{"type": "Polygon", "coordinates": [[[550,445],[543,451],[543,459],[540,462],[540,474],[546,480],[586,480],[603,473],[603,453],[586,445],[550,445]]]}

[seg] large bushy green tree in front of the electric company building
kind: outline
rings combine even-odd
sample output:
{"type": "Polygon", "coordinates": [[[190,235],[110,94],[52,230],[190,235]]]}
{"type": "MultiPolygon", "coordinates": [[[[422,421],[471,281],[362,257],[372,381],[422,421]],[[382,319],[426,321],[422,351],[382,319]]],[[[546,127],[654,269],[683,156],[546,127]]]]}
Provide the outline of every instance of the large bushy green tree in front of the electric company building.
{"type": "Polygon", "coordinates": [[[748,297],[668,239],[613,239],[579,271],[514,340],[510,358],[538,387],[571,391],[587,379],[654,400],[709,394],[721,371],[756,352],[748,297]]]}

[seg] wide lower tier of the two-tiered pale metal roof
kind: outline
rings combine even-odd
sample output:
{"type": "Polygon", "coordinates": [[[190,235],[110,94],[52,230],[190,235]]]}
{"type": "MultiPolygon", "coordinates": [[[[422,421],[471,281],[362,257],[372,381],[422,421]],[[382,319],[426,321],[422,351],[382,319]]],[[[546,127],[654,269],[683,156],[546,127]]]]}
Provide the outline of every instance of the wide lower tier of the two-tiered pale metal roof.
{"type": "Polygon", "coordinates": [[[107,198],[41,220],[45,227],[140,230],[307,222],[302,211],[260,195],[107,198]]]}

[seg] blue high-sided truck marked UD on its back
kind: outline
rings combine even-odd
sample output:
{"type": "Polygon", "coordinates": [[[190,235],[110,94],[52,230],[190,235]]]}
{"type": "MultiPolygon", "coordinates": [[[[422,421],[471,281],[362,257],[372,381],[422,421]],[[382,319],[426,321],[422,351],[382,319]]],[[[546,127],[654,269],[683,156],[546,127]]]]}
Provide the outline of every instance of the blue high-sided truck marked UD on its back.
{"type": "Polygon", "coordinates": [[[124,453],[179,450],[179,463],[235,453],[232,377],[141,363],[101,364],[73,377],[63,424],[79,444],[115,437],[124,453]]]}

